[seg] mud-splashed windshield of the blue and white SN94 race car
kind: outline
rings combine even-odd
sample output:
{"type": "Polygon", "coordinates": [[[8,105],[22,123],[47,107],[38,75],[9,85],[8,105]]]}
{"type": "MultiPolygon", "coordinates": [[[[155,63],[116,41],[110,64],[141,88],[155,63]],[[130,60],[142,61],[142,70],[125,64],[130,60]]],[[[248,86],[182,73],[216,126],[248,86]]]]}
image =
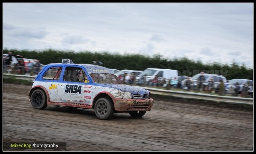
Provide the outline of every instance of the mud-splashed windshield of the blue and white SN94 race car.
{"type": "Polygon", "coordinates": [[[92,73],[92,80],[96,83],[124,84],[116,75],[108,73],[92,73]]]}

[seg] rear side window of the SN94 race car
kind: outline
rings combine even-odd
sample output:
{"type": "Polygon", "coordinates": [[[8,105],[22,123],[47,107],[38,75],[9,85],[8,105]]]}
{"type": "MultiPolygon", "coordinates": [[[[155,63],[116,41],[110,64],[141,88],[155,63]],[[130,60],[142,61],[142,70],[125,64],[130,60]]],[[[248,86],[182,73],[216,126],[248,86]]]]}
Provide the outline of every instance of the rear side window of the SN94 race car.
{"type": "Polygon", "coordinates": [[[62,67],[51,67],[49,68],[43,76],[45,80],[59,80],[62,67]]]}

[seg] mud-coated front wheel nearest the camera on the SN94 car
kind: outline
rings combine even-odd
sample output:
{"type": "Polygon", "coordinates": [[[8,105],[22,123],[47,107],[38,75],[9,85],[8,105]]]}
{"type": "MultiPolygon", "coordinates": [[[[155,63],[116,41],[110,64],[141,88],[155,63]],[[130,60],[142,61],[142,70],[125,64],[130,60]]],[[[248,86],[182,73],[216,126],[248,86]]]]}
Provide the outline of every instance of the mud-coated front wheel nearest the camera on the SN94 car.
{"type": "Polygon", "coordinates": [[[94,106],[94,112],[96,116],[101,119],[109,119],[114,114],[114,105],[108,98],[100,98],[96,101],[94,106]]]}

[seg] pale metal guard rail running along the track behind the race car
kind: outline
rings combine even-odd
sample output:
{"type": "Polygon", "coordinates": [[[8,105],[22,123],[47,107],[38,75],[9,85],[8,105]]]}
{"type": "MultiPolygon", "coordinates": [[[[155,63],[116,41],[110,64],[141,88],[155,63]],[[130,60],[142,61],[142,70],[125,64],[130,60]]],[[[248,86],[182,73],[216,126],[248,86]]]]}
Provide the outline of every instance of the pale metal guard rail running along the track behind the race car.
{"type": "MultiPolygon", "coordinates": [[[[15,77],[16,79],[21,80],[28,80],[33,81],[36,76],[31,75],[17,75],[17,74],[9,74],[4,73],[4,78],[12,78],[15,77]]],[[[137,86],[141,87],[141,86],[137,86]]],[[[144,89],[148,89],[151,94],[159,94],[159,95],[168,95],[174,97],[181,97],[181,98],[188,98],[188,99],[200,99],[200,100],[208,100],[218,103],[229,103],[229,104],[249,104],[253,105],[252,98],[243,98],[243,97],[232,97],[232,96],[217,96],[211,94],[202,94],[202,93],[195,93],[189,91],[175,91],[175,90],[165,90],[165,89],[157,89],[157,88],[150,88],[150,87],[141,87],[144,89]]]]}

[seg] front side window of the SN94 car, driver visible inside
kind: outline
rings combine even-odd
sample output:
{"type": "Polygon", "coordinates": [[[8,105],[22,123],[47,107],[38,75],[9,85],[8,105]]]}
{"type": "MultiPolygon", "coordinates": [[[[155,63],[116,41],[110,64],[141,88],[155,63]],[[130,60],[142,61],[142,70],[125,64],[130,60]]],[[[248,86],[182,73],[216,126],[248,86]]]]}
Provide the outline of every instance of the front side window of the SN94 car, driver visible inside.
{"type": "Polygon", "coordinates": [[[63,80],[69,82],[90,82],[84,70],[80,67],[66,67],[63,80]]]}

